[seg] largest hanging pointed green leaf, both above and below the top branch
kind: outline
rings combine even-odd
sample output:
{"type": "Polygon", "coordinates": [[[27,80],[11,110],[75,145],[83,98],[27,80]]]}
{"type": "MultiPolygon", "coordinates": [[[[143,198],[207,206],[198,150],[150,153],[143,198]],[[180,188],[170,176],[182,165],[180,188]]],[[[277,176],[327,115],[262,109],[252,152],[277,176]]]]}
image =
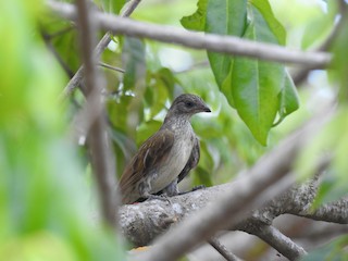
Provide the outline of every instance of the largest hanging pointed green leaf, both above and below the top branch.
{"type": "MultiPolygon", "coordinates": [[[[249,5],[248,11],[252,20],[244,37],[258,41],[277,41],[259,10],[249,5]]],[[[259,142],[266,145],[268,134],[279,108],[278,94],[284,83],[284,66],[236,58],[228,77],[222,90],[227,94],[227,98],[233,97],[232,104],[252,135],[259,142]]]]}

